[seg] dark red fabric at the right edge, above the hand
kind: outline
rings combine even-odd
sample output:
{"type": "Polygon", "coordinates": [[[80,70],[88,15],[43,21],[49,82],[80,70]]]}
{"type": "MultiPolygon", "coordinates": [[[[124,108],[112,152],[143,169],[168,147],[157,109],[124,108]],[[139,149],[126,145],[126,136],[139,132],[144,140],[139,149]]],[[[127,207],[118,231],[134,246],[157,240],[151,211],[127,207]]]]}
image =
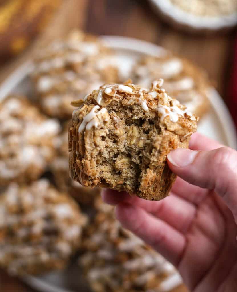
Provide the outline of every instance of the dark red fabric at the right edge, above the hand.
{"type": "Polygon", "coordinates": [[[237,128],[237,41],[235,44],[234,52],[235,54],[233,58],[233,72],[231,78],[228,106],[237,128]]]}

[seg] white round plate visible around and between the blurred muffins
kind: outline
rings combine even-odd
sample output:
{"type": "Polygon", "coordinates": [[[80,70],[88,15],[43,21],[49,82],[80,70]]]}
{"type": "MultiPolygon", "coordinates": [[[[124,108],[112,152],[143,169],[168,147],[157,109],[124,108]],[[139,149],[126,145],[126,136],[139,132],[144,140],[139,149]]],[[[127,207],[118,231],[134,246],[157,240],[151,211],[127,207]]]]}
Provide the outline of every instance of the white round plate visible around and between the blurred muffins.
{"type": "MultiPolygon", "coordinates": [[[[118,62],[126,64],[124,69],[129,77],[129,68],[133,62],[143,54],[161,55],[165,50],[159,46],[136,39],[103,36],[104,43],[117,53],[118,62]]],[[[19,67],[0,86],[0,100],[9,93],[20,92],[31,94],[32,88],[28,75],[32,70],[32,63],[27,62],[19,67]]],[[[216,139],[224,145],[237,149],[236,131],[230,113],[214,88],[208,90],[210,100],[210,112],[201,119],[198,131],[216,139]]],[[[67,270],[51,272],[41,277],[26,276],[23,280],[32,288],[42,292],[75,292],[88,291],[85,283],[80,277],[81,271],[76,264],[70,265],[67,270]]],[[[175,279],[176,286],[180,284],[180,278],[175,279]]]]}

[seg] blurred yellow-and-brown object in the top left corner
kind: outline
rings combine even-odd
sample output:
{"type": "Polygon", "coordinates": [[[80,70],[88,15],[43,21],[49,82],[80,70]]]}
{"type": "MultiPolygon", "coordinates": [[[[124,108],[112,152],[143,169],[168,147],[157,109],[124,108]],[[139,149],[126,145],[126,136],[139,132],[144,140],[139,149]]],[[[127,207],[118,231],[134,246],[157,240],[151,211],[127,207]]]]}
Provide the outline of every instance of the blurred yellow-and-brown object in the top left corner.
{"type": "Polygon", "coordinates": [[[22,52],[46,27],[62,0],[0,1],[0,62],[22,52]]]}

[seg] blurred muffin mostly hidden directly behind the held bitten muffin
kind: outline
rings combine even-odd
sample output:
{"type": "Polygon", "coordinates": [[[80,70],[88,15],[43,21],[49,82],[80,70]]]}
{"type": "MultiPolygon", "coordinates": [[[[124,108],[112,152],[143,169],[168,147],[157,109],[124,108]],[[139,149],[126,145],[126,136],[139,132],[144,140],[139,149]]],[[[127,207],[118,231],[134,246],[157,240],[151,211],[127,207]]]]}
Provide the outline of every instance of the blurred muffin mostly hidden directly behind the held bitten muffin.
{"type": "Polygon", "coordinates": [[[83,187],[69,176],[68,166],[68,123],[55,140],[57,154],[50,169],[54,176],[57,188],[62,192],[67,192],[81,204],[92,204],[96,197],[100,195],[100,188],[83,187]]]}

